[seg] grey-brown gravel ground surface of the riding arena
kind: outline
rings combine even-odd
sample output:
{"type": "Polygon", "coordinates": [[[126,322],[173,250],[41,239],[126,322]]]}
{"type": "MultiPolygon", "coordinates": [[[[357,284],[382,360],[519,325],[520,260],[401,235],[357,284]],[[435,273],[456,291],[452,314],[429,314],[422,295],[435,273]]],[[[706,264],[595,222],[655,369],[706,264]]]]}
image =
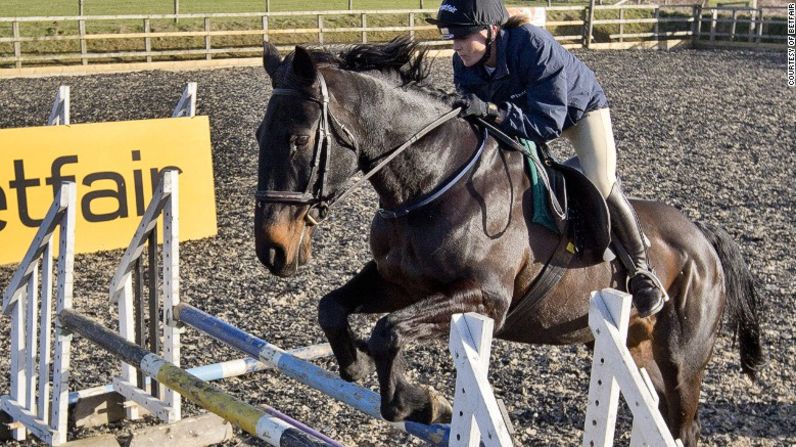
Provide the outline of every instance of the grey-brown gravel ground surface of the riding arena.
{"type": "MultiPolygon", "coordinates": [[[[796,445],[796,89],[786,87],[784,52],[576,54],[597,73],[611,103],[626,190],[727,229],[758,280],[768,362],[759,383],[751,384],[740,373],[730,331],[722,330],[702,390],[702,445],[796,445]]],[[[438,60],[432,82],[450,90],[451,77],[449,60],[438,60]]],[[[325,341],[316,322],[317,301],[369,259],[367,234],[376,196],[363,188],[334,210],[315,234],[314,261],[298,276],[279,279],[267,273],[255,256],[252,235],[258,151],[253,133],[271,91],[262,69],[0,80],[0,128],[41,125],[60,84],[71,86],[73,123],[166,117],[189,81],[198,82],[198,113],[209,115],[212,126],[219,232],[182,244],[183,296],[285,349],[325,341]]],[[[562,153],[569,149],[558,142],[554,147],[562,153]]],[[[75,307],[112,327],[116,314],[106,291],[121,255],[117,250],[76,260],[75,307]]],[[[11,267],[0,268],[2,287],[11,267]]],[[[374,322],[355,319],[362,332],[374,322]]],[[[0,319],[0,394],[8,392],[8,331],[8,319],[0,319]]],[[[194,331],[183,340],[185,367],[239,357],[194,331]]],[[[455,371],[446,343],[412,346],[406,357],[411,377],[453,395],[455,371]]],[[[333,359],[318,363],[337,369],[333,359]]],[[[72,389],[109,383],[118,371],[108,355],[80,337],[73,365],[72,389]]],[[[580,444],[590,365],[584,346],[494,343],[489,378],[505,400],[517,445],[580,444]]],[[[275,372],[220,385],[350,446],[422,445],[275,372]]],[[[375,375],[365,385],[376,389],[375,375]]],[[[187,405],[188,414],[199,411],[187,405]]],[[[627,409],[620,408],[617,432],[625,433],[629,421],[627,409]]],[[[151,423],[83,430],[70,439],[108,430],[121,437],[151,423]]],[[[224,445],[264,445],[236,433],[224,445]]],[[[628,437],[625,433],[619,443],[627,445],[628,437]]]]}

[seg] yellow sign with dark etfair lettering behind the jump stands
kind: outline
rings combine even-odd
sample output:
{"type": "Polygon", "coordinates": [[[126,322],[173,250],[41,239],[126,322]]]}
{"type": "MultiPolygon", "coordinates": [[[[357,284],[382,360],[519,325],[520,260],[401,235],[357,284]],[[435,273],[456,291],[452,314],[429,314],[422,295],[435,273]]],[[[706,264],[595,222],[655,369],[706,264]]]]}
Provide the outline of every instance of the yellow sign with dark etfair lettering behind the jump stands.
{"type": "Polygon", "coordinates": [[[180,240],[214,236],[206,116],[0,130],[0,264],[22,260],[63,181],[77,183],[76,252],[127,247],[167,168],[180,170],[180,240]]]}

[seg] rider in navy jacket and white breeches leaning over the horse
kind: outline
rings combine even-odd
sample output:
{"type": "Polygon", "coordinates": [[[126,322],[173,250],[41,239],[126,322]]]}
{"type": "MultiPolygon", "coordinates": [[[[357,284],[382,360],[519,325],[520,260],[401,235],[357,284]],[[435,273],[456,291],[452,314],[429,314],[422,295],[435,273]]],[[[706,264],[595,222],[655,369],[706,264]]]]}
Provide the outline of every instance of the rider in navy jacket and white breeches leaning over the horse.
{"type": "Polygon", "coordinates": [[[453,78],[461,116],[492,121],[503,132],[543,143],[559,136],[575,147],[586,177],[611,212],[613,235],[632,258],[628,291],[642,317],[663,307],[645,237],[616,178],[616,146],[608,100],[591,71],[547,31],[509,17],[501,0],[444,0],[436,19],[453,40],[453,78]]]}

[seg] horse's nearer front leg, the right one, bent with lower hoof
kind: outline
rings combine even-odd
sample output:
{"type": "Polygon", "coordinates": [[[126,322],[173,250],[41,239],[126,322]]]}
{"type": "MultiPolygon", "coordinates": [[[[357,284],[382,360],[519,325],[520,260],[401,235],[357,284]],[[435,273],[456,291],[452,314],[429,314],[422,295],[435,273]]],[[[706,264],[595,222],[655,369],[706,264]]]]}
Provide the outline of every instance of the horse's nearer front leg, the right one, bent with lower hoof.
{"type": "Polygon", "coordinates": [[[450,422],[452,409],[444,397],[429,387],[406,380],[402,348],[413,340],[446,338],[451,316],[457,313],[487,315],[495,320],[498,329],[508,305],[508,298],[491,296],[471,287],[432,295],[381,318],[373,329],[368,350],[379,375],[382,416],[388,421],[450,422]]]}

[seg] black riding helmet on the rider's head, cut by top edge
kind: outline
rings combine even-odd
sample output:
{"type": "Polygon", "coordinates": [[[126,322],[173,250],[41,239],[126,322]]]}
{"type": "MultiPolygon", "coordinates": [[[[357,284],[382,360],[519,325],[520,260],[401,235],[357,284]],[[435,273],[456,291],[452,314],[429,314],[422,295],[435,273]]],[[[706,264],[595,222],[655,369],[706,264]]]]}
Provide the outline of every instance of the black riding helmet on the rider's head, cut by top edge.
{"type": "Polygon", "coordinates": [[[502,0],[445,0],[437,18],[428,18],[426,22],[437,25],[443,39],[454,39],[490,25],[502,26],[508,19],[509,12],[502,0]]]}

